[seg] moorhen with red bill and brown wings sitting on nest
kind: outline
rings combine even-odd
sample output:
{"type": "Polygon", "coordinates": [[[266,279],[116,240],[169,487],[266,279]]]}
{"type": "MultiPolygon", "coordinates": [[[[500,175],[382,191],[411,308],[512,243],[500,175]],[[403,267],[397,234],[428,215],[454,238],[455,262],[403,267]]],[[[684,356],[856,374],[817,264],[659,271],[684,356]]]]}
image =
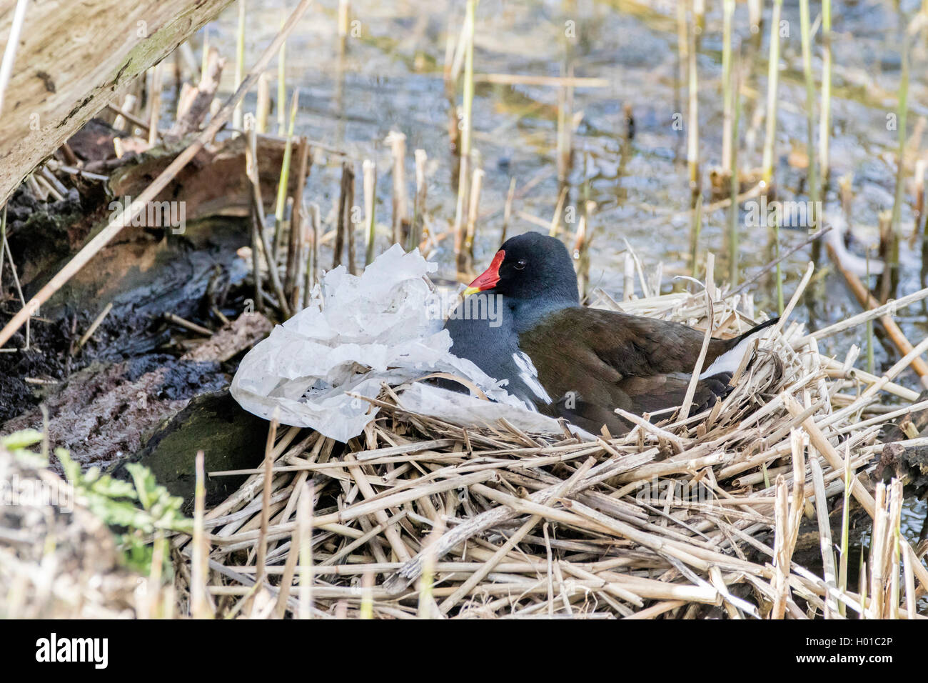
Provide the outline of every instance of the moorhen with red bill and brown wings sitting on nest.
{"type": "MultiPolygon", "coordinates": [[[[692,414],[724,397],[748,345],[774,318],[709,342],[692,414]]],[[[445,322],[451,352],[473,361],[540,413],[624,434],[633,414],[680,405],[704,333],[678,322],[580,306],[574,264],[554,237],[507,240],[445,322]]]]}

